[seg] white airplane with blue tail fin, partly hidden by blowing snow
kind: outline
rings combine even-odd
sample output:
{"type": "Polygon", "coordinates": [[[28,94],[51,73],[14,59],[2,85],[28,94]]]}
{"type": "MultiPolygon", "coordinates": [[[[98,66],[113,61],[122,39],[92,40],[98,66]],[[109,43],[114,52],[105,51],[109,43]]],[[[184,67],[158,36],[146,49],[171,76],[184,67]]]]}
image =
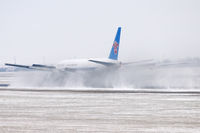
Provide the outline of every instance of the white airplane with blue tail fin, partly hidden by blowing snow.
{"type": "Polygon", "coordinates": [[[57,65],[43,65],[43,64],[32,64],[31,66],[10,64],[5,63],[6,66],[20,67],[32,70],[43,70],[43,71],[59,71],[59,72],[77,72],[77,71],[95,71],[102,69],[114,69],[120,68],[122,65],[128,64],[139,64],[148,65],[151,64],[152,60],[141,60],[135,62],[122,63],[118,60],[119,45],[120,45],[121,27],[118,27],[114,42],[112,44],[110,54],[108,58],[102,59],[70,59],[64,60],[57,65]],[[143,64],[144,63],[144,64],[143,64]]]}

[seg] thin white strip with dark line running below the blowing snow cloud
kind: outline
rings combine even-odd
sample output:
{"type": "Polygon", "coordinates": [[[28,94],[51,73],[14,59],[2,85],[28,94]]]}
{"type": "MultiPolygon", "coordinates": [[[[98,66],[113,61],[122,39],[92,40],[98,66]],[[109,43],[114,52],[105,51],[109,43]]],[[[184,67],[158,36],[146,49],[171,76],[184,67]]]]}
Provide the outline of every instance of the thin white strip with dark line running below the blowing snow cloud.
{"type": "Polygon", "coordinates": [[[24,92],[78,92],[78,93],[180,93],[200,94],[199,89],[146,89],[146,88],[62,88],[62,87],[0,87],[0,91],[24,92]]]}

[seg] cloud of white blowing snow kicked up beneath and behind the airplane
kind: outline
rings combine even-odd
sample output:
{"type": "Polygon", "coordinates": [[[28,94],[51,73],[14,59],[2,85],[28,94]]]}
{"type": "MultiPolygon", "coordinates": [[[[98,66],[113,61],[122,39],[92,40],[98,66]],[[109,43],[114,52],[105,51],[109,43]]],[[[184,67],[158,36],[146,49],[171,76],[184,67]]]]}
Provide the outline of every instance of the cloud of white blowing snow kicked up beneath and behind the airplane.
{"type": "Polygon", "coordinates": [[[199,89],[200,68],[178,66],[122,66],[118,69],[77,72],[16,72],[11,87],[199,89]]]}

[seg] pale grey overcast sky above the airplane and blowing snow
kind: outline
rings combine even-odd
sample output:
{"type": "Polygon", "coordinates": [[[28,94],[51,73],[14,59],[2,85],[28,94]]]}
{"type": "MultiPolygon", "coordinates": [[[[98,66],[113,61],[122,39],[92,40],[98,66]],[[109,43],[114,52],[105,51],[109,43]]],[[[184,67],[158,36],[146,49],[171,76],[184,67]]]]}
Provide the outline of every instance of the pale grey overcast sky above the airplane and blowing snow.
{"type": "Polygon", "coordinates": [[[0,63],[200,57],[199,0],[0,0],[0,63]]]}

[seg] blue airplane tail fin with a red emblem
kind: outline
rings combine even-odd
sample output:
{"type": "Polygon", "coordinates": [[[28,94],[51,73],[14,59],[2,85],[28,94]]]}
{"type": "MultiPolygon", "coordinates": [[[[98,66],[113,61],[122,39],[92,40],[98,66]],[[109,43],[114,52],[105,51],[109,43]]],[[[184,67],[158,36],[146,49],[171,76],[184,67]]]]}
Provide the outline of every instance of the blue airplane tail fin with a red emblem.
{"type": "Polygon", "coordinates": [[[120,34],[121,34],[121,27],[118,27],[117,34],[115,36],[115,40],[113,42],[113,45],[110,51],[109,59],[112,59],[112,60],[118,59],[120,34]]]}

